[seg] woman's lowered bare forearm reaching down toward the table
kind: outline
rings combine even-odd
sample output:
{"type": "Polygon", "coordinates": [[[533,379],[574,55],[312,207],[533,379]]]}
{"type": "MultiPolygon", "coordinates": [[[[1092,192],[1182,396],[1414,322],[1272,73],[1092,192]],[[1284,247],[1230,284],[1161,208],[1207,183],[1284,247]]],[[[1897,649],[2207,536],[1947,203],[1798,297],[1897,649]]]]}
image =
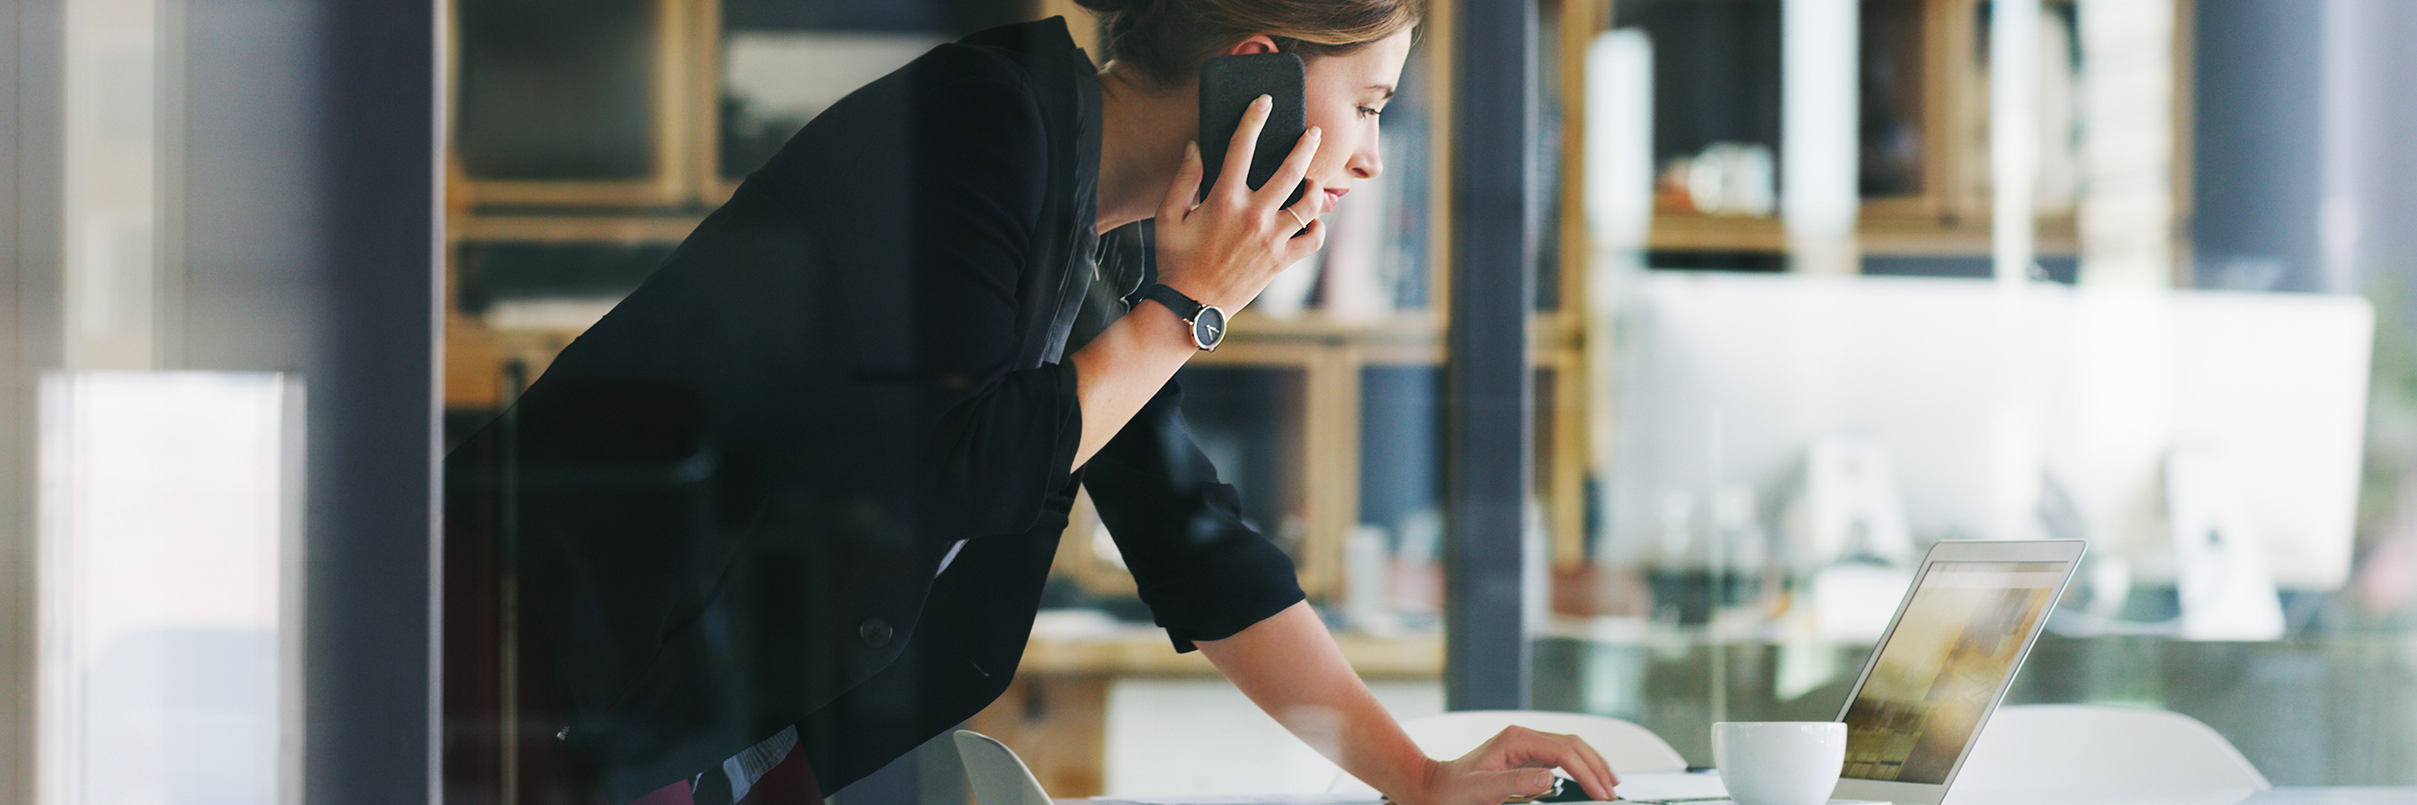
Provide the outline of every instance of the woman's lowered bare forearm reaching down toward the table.
{"type": "Polygon", "coordinates": [[[1242,696],[1317,754],[1397,803],[1426,800],[1419,793],[1436,761],[1385,713],[1308,602],[1199,648],[1242,696]]]}

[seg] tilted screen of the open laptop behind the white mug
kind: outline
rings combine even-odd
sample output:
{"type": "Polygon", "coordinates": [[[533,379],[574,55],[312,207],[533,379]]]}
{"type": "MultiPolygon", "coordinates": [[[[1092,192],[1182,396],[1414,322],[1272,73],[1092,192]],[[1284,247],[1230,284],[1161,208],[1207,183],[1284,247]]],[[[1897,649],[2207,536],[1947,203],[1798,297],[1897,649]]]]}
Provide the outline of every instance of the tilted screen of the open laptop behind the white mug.
{"type": "Polygon", "coordinates": [[[1847,706],[1844,776],[1946,783],[2069,571],[1931,561],[1847,706]]]}

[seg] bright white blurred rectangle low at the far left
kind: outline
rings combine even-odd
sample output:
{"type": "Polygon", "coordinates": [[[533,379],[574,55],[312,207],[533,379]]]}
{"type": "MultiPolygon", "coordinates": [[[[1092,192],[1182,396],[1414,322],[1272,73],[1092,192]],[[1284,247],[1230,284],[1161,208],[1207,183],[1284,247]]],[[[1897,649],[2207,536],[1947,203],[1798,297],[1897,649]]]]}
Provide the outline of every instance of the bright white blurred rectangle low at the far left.
{"type": "Polygon", "coordinates": [[[302,382],[41,382],[39,803],[297,795],[302,382]]]}

